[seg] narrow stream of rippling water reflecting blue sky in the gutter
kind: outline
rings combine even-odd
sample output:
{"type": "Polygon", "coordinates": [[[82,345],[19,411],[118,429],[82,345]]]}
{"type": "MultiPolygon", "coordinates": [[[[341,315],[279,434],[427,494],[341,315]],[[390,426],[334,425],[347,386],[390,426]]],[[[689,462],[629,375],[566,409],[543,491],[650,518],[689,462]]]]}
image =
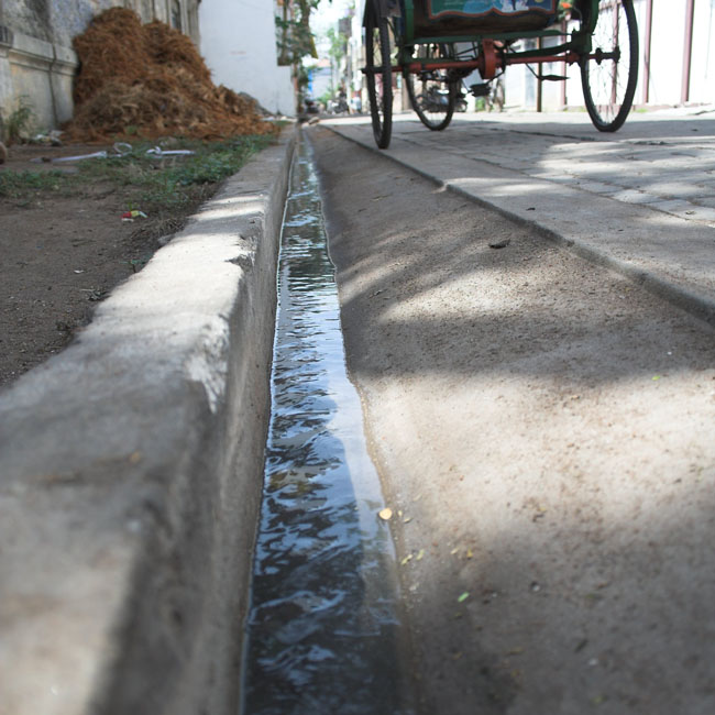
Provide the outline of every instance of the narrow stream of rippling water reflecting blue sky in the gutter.
{"type": "Polygon", "coordinates": [[[305,142],[283,228],[272,399],[243,714],[411,713],[394,549],[305,142]]]}

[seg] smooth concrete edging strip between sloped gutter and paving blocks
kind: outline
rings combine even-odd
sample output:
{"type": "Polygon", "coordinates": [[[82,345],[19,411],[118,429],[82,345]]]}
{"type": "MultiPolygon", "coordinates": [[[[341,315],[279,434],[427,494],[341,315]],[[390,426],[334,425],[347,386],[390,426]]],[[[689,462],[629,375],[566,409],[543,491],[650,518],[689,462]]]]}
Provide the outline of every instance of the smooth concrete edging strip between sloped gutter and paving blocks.
{"type": "MultiPolygon", "coordinates": [[[[474,164],[470,162],[466,172],[461,175],[462,178],[446,178],[440,175],[446,165],[444,156],[435,150],[416,150],[403,139],[395,138],[391,150],[383,151],[371,142],[372,134],[369,135],[369,132],[359,132],[348,125],[321,125],[363,148],[416,172],[444,190],[453,191],[538,231],[546,239],[568,248],[592,263],[626,276],[650,293],[715,327],[712,275],[704,279],[707,271],[703,268],[712,263],[712,241],[704,238],[710,235],[711,229],[694,222],[680,221],[648,207],[612,201],[569,187],[558,187],[556,190],[553,184],[534,178],[528,179],[530,193],[514,196],[508,187],[514,183],[524,184],[524,176],[486,162],[480,164],[480,176],[469,173],[473,170],[474,164]],[[415,161],[416,151],[420,153],[420,162],[415,161]],[[543,218],[534,218],[535,215],[529,213],[532,210],[529,205],[535,201],[532,194],[536,194],[537,189],[543,218]],[[583,205],[584,196],[587,197],[588,212],[579,217],[570,215],[568,209],[583,205]],[[631,220],[636,216],[637,228],[629,237],[635,250],[626,251],[622,227],[626,221],[630,221],[631,228],[636,226],[631,220]],[[653,217],[662,224],[660,228],[654,227],[653,217]],[[663,252],[664,244],[658,238],[660,231],[681,235],[682,240],[674,252],[670,249],[663,252]],[[691,254],[690,265],[700,266],[698,274],[703,275],[696,275],[692,270],[678,265],[678,258],[684,253],[691,254]],[[657,256],[654,260],[645,258],[653,255],[657,256]]],[[[451,157],[451,162],[454,161],[459,160],[451,157]]]]}

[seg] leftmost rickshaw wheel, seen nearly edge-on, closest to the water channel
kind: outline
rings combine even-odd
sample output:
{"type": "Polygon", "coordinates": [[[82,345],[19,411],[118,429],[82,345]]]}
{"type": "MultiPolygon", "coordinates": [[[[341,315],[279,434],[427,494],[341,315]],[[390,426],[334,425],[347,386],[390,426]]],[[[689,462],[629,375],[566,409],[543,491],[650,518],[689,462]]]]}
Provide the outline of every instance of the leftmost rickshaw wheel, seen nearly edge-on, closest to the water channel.
{"type": "Polygon", "coordinates": [[[376,3],[370,4],[365,16],[365,55],[373,134],[377,146],[387,148],[393,132],[392,53],[387,19],[378,15],[376,3]]]}

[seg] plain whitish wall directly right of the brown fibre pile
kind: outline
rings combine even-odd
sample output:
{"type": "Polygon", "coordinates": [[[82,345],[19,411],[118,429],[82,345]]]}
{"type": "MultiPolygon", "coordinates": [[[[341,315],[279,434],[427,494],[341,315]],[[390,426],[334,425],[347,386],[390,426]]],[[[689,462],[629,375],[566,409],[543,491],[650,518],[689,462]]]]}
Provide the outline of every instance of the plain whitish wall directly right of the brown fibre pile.
{"type": "Polygon", "coordinates": [[[294,116],[290,67],[277,64],[274,15],[273,2],[265,0],[202,0],[200,51],[215,84],[294,116]]]}

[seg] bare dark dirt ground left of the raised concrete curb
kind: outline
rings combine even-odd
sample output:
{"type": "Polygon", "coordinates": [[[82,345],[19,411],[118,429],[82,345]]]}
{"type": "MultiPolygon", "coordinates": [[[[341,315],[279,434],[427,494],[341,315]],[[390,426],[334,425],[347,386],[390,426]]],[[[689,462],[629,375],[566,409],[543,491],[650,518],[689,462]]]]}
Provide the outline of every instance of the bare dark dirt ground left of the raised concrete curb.
{"type": "MultiPolygon", "coordinates": [[[[12,146],[0,172],[76,172],[72,163],[32,160],[102,148],[12,146]]],[[[0,389],[65,348],[97,301],[183,226],[182,216],[123,221],[135,200],[131,188],[102,183],[72,195],[51,189],[23,199],[0,197],[0,389]]]]}

